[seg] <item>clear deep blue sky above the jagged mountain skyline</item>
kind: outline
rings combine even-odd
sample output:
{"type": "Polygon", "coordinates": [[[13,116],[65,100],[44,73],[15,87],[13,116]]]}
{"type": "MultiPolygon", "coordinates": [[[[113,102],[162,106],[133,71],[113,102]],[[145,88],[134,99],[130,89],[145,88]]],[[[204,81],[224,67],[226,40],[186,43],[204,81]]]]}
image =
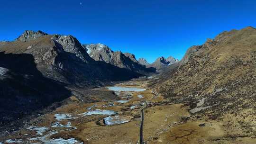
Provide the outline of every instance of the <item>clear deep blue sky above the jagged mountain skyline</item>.
{"type": "Polygon", "coordinates": [[[0,40],[24,30],[73,35],[153,62],[181,59],[224,30],[256,27],[256,0],[1,0],[0,40]]]}

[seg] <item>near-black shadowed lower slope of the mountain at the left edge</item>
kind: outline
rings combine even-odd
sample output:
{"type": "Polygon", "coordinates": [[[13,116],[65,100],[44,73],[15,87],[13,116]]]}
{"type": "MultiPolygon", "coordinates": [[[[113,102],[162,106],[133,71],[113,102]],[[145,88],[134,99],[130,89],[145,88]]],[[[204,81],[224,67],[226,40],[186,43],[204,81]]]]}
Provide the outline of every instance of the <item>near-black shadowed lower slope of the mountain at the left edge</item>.
{"type": "Polygon", "coordinates": [[[0,53],[0,121],[5,124],[71,95],[37,70],[31,54],[0,53]]]}

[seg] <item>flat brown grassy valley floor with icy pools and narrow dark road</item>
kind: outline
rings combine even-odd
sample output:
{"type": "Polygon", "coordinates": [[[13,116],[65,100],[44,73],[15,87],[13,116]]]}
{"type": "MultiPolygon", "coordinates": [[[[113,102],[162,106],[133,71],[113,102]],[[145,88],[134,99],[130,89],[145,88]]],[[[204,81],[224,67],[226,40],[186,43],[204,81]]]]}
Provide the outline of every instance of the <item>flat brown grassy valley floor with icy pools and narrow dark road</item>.
{"type": "Polygon", "coordinates": [[[30,126],[0,137],[0,144],[255,144],[255,137],[231,137],[223,119],[191,112],[148,86],[151,77],[94,90],[113,99],[84,103],[76,97],[31,120],[30,126]]]}

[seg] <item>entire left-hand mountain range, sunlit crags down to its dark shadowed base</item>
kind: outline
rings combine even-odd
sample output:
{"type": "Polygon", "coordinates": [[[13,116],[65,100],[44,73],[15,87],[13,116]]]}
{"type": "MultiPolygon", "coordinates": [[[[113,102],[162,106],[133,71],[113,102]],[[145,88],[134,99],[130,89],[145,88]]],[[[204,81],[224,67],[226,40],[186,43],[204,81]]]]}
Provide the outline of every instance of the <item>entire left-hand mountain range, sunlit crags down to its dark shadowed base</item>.
{"type": "MultiPolygon", "coordinates": [[[[156,73],[154,66],[142,65],[134,54],[113,52],[102,44],[81,45],[74,36],[42,31],[26,30],[15,41],[0,42],[0,54],[3,122],[65,99],[73,88],[103,86],[156,73]],[[11,101],[15,106],[6,105],[11,101]]],[[[76,94],[81,91],[76,90],[76,94]]]]}

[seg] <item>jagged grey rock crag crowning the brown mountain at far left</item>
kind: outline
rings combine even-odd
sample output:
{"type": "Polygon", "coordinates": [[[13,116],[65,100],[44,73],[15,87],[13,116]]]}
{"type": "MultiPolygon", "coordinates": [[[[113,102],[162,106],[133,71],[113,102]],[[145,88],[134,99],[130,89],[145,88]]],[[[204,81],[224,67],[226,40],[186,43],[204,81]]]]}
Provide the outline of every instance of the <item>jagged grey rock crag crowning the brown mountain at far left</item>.
{"type": "Polygon", "coordinates": [[[48,35],[48,34],[46,34],[45,32],[42,32],[40,30],[38,30],[37,32],[32,31],[32,30],[25,30],[22,35],[18,36],[16,41],[26,42],[26,41],[37,39],[38,37],[42,37],[42,36],[46,36],[46,35],[48,35]]]}

